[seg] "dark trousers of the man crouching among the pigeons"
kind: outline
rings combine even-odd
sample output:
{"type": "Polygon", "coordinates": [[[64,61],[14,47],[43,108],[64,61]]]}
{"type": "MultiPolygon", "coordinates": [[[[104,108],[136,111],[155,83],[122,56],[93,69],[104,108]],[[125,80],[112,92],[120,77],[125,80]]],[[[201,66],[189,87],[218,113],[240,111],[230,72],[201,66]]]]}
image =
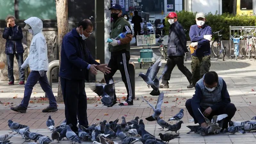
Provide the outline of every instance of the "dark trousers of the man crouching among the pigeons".
{"type": "MultiPolygon", "coordinates": [[[[188,113],[190,114],[190,116],[192,116],[195,120],[195,124],[198,123],[195,116],[194,116],[194,113],[193,113],[193,110],[192,110],[192,107],[191,107],[191,99],[188,99],[186,101],[186,108],[188,110],[188,113]]],[[[201,112],[204,112],[204,108],[200,108],[201,109],[201,112]]],[[[216,111],[213,111],[210,116],[208,116],[207,118],[212,121],[212,117],[213,116],[216,116],[216,115],[221,115],[221,114],[227,114],[228,117],[226,117],[223,121],[223,126],[222,128],[228,128],[228,122],[229,120],[232,119],[232,117],[235,115],[236,113],[236,107],[233,103],[228,103],[226,106],[224,107],[221,107],[219,109],[217,109],[216,111]]]]}

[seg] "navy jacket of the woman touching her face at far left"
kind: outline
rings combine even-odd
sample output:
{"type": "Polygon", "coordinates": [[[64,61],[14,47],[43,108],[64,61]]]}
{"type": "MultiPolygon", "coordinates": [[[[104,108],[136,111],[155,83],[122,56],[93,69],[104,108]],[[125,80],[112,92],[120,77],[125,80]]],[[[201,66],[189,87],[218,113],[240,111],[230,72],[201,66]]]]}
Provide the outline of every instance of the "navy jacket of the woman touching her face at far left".
{"type": "Polygon", "coordinates": [[[3,38],[6,39],[5,53],[13,53],[14,43],[16,53],[23,53],[24,49],[21,43],[23,38],[21,27],[15,25],[14,27],[4,28],[3,38]],[[11,39],[9,39],[11,36],[11,39]]]}

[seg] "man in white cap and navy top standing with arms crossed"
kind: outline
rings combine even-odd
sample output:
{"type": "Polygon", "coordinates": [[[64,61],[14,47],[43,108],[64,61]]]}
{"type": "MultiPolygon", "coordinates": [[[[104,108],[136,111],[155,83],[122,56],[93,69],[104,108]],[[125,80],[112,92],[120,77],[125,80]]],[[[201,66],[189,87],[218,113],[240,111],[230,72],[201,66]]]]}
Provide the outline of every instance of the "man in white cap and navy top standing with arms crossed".
{"type": "Polygon", "coordinates": [[[203,12],[196,14],[196,25],[192,25],[189,30],[191,47],[197,47],[191,56],[192,84],[188,88],[193,88],[196,82],[201,79],[211,66],[211,46],[212,28],[204,24],[205,16],[203,12]]]}

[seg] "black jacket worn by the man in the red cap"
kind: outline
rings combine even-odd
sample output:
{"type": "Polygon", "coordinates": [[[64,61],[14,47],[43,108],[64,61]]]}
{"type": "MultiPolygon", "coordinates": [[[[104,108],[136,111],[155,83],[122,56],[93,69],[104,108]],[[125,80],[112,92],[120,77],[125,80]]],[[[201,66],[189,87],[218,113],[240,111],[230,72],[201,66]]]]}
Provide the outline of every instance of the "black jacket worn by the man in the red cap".
{"type": "Polygon", "coordinates": [[[167,48],[168,56],[184,56],[184,52],[188,52],[187,38],[178,21],[170,26],[167,48]]]}

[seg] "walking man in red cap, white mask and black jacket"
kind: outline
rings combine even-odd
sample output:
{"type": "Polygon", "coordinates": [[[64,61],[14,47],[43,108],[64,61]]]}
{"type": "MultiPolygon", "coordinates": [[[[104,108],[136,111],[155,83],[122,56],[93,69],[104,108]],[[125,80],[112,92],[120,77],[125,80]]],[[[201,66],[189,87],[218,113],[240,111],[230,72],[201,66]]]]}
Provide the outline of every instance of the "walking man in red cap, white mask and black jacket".
{"type": "Polygon", "coordinates": [[[167,18],[169,18],[168,22],[171,24],[167,45],[169,58],[166,63],[167,70],[162,77],[160,88],[169,88],[168,81],[171,78],[171,73],[175,65],[177,65],[179,70],[187,77],[190,84],[192,77],[192,73],[184,66],[184,53],[188,52],[185,32],[177,21],[177,14],[175,12],[170,12],[167,18]]]}

